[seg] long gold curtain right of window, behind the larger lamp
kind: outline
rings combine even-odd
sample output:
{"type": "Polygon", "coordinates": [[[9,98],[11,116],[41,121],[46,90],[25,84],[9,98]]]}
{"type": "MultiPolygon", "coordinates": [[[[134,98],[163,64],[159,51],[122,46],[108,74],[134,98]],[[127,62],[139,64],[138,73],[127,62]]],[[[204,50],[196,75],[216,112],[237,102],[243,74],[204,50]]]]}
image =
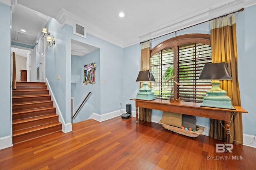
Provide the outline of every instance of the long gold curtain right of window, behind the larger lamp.
{"type": "MultiPolygon", "coordinates": [[[[210,28],[212,63],[225,62],[232,77],[232,81],[222,81],[220,87],[227,92],[232,105],[241,106],[237,69],[236,14],[210,21],[210,28]]],[[[210,137],[224,140],[226,134],[222,125],[219,120],[211,119],[210,137]]],[[[230,143],[243,144],[242,113],[234,114],[230,123],[230,136],[230,143]]]]}

